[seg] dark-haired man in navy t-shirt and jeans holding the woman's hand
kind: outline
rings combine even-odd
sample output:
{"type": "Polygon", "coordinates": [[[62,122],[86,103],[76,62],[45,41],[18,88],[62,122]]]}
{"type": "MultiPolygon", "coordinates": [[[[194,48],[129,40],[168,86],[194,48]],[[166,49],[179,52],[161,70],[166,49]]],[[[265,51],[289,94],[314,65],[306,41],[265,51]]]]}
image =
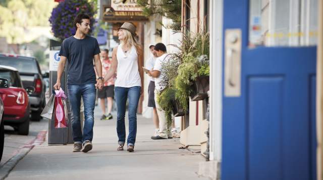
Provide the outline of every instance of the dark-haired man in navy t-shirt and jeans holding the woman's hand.
{"type": "Polygon", "coordinates": [[[88,152],[92,149],[96,88],[101,89],[103,86],[102,64],[97,40],[86,35],[90,31],[90,17],[85,14],[77,15],[74,27],[76,28],[75,35],[66,38],[62,43],[57,82],[53,87],[60,89],[61,77],[66,60],[68,60],[67,93],[72,111],[73,152],[81,150],[88,152]],[[97,81],[93,69],[93,59],[99,76],[97,81]],[[80,121],[81,97],[83,98],[85,115],[83,134],[80,121]]]}

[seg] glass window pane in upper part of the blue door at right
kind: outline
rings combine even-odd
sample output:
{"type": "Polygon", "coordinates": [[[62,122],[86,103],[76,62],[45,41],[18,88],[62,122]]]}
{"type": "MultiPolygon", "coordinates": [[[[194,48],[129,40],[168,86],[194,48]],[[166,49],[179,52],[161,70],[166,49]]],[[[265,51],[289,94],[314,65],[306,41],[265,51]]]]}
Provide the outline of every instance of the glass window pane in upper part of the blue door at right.
{"type": "Polygon", "coordinates": [[[315,46],[317,0],[250,0],[249,46],[315,46]]]}

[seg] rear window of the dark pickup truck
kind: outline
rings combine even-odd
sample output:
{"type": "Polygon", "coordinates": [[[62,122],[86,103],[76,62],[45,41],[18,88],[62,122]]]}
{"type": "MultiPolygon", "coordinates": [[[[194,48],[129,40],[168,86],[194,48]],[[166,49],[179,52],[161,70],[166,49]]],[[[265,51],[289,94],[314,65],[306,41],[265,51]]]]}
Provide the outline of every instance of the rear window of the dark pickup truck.
{"type": "Polygon", "coordinates": [[[14,58],[0,58],[0,64],[4,66],[11,66],[23,73],[38,73],[37,64],[34,60],[28,59],[14,59],[14,58]]]}

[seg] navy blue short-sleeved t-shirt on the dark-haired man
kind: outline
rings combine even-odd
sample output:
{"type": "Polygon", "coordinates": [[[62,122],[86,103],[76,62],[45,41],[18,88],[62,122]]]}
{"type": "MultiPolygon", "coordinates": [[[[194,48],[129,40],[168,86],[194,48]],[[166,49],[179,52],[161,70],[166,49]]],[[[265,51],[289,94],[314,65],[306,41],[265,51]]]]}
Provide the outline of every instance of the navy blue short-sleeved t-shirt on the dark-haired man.
{"type": "Polygon", "coordinates": [[[99,53],[99,44],[94,37],[66,38],[61,46],[60,56],[65,56],[68,60],[67,84],[96,83],[93,57],[99,53]]]}

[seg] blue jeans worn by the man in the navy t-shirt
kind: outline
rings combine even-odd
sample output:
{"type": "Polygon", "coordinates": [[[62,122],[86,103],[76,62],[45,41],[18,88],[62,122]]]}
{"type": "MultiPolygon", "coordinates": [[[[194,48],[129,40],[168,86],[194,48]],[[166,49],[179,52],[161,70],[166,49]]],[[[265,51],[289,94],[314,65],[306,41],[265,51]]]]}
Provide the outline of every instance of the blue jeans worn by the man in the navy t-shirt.
{"type": "Polygon", "coordinates": [[[93,125],[94,125],[94,107],[96,89],[94,83],[82,85],[67,85],[68,99],[71,108],[73,140],[75,143],[83,143],[86,140],[92,142],[93,139],[93,125]],[[84,127],[83,134],[81,131],[80,121],[80,106],[81,97],[83,97],[84,104],[84,127]]]}

